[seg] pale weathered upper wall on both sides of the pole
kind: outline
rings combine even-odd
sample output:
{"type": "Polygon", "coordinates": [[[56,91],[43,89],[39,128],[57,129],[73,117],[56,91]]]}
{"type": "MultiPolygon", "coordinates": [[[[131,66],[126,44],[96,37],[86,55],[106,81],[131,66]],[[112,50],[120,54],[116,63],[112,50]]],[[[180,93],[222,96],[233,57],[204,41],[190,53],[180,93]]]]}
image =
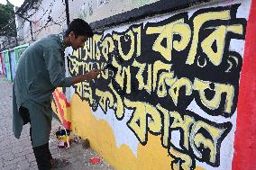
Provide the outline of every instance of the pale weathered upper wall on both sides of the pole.
{"type": "MultiPolygon", "coordinates": [[[[69,1],[70,21],[82,18],[87,22],[96,22],[118,13],[131,11],[145,4],[152,4],[159,0],[97,0],[97,1],[69,1]]],[[[16,17],[17,32],[20,43],[39,40],[46,35],[59,33],[67,29],[64,1],[38,0],[29,8],[23,17],[32,21],[32,35],[30,22],[16,17]],[[32,40],[33,36],[33,40],[32,40]]]]}

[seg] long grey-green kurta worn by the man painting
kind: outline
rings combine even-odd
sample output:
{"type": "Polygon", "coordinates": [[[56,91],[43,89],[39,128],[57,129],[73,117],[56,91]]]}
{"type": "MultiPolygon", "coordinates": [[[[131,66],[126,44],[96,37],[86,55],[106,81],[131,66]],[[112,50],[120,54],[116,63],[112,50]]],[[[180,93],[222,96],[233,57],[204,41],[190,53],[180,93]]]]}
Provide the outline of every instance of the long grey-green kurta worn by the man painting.
{"type": "Polygon", "coordinates": [[[26,107],[32,126],[32,147],[49,142],[52,92],[56,87],[72,85],[72,77],[65,76],[64,49],[63,35],[50,35],[34,42],[19,60],[14,77],[14,136],[21,136],[23,119],[19,108],[26,107]]]}

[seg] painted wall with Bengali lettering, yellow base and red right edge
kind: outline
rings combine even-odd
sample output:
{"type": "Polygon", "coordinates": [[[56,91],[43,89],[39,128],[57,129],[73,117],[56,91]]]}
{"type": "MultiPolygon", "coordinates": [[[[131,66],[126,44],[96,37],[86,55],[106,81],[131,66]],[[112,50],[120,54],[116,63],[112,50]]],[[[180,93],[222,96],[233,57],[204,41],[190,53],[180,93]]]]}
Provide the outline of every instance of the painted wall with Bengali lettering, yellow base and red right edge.
{"type": "Polygon", "coordinates": [[[254,70],[252,9],[250,0],[198,4],[98,31],[69,56],[69,73],[114,68],[59,88],[53,110],[116,169],[255,169],[254,109],[244,104],[253,94],[242,85],[254,70]]]}

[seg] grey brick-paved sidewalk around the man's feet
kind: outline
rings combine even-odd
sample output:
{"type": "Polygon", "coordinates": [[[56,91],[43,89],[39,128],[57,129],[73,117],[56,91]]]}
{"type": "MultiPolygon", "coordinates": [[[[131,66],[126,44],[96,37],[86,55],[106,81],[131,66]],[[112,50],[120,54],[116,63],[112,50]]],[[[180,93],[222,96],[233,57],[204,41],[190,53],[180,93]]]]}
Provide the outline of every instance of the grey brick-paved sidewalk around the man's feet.
{"type": "MultiPolygon", "coordinates": [[[[15,139],[12,122],[12,84],[0,75],[0,169],[36,170],[37,165],[32,152],[29,136],[30,125],[23,127],[21,139],[15,139]]],[[[89,159],[99,157],[91,148],[83,148],[81,143],[73,142],[68,149],[59,149],[53,134],[59,128],[59,121],[53,118],[50,134],[50,152],[52,157],[68,159],[71,164],[63,170],[114,170],[101,158],[101,162],[92,165],[89,159]]]]}

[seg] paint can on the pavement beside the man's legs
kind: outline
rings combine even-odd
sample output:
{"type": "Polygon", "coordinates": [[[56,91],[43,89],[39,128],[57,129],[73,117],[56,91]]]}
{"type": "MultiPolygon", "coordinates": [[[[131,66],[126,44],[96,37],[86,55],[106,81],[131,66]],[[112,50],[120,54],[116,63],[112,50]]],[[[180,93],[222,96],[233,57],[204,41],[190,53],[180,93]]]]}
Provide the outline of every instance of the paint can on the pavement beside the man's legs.
{"type": "Polygon", "coordinates": [[[69,148],[71,145],[71,130],[66,130],[64,127],[56,132],[56,138],[58,139],[58,148],[69,148]]]}

